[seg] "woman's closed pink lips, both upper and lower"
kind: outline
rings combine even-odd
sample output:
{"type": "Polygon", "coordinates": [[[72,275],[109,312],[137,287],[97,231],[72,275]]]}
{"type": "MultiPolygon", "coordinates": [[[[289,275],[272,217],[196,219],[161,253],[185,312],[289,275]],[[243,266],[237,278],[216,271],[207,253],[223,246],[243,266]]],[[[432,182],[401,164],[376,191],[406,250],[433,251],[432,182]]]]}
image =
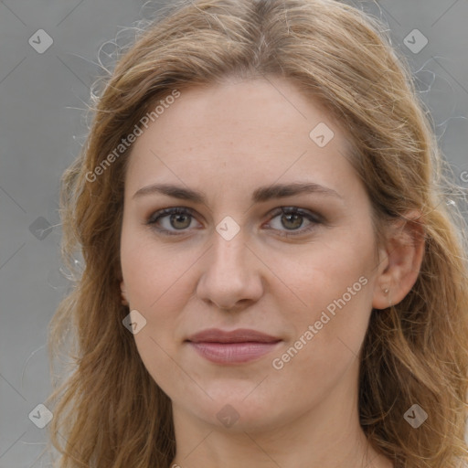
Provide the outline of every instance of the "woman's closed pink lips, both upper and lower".
{"type": "Polygon", "coordinates": [[[224,365],[257,360],[270,353],[281,342],[281,338],[255,330],[238,329],[227,332],[214,328],[199,332],[186,340],[199,356],[224,365]]]}

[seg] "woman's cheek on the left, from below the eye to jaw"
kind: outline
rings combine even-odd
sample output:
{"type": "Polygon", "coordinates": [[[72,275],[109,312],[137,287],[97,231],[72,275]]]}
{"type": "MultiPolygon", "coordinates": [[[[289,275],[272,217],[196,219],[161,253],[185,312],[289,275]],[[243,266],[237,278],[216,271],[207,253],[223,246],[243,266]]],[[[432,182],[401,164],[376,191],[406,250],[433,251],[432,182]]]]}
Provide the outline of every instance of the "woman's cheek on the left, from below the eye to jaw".
{"type": "Polygon", "coordinates": [[[176,255],[176,248],[156,247],[154,240],[130,229],[122,230],[121,246],[122,276],[131,309],[146,320],[134,335],[144,367],[166,394],[174,393],[175,382],[177,388],[193,393],[193,382],[172,356],[177,352],[180,312],[190,296],[185,273],[197,256],[193,251],[187,250],[185,257],[176,255]]]}

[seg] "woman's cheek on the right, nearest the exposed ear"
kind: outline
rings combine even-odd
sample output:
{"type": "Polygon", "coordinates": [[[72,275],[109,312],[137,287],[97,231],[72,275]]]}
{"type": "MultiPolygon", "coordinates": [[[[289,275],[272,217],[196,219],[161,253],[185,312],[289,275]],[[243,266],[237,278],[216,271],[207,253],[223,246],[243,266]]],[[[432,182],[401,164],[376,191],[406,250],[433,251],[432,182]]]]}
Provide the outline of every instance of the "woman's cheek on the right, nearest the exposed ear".
{"type": "Polygon", "coordinates": [[[291,292],[282,294],[284,307],[288,303],[286,296],[295,305],[290,305],[287,317],[293,324],[293,340],[303,336],[312,325],[314,337],[303,339],[314,342],[319,353],[332,352],[334,348],[339,354],[346,346],[357,353],[372,309],[371,233],[371,229],[363,230],[339,240],[336,236],[311,244],[310,249],[294,258],[293,268],[290,258],[276,257],[274,269],[288,272],[285,282],[294,293],[294,296],[291,292]]]}

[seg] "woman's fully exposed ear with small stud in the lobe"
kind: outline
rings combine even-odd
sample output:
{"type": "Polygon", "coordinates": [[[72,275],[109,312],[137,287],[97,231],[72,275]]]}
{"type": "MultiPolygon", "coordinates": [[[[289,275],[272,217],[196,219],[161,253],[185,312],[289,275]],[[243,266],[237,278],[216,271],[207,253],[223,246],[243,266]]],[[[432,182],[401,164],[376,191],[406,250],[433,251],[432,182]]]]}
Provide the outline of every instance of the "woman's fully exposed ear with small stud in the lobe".
{"type": "Polygon", "coordinates": [[[404,219],[392,222],[386,239],[379,250],[372,301],[375,309],[387,309],[401,302],[418,279],[425,247],[420,212],[410,211],[404,219]]]}

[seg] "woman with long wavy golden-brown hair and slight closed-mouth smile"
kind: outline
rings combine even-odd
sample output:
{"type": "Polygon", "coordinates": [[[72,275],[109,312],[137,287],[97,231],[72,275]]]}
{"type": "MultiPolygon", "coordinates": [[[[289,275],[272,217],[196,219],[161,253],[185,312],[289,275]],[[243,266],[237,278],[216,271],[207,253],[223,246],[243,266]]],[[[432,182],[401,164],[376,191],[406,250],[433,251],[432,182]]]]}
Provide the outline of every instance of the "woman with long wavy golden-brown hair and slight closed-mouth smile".
{"type": "Polygon", "coordinates": [[[63,180],[85,269],[51,324],[51,356],[76,339],[58,466],[463,466],[441,174],[408,66],[355,8],[199,0],[148,27],[63,180]]]}

